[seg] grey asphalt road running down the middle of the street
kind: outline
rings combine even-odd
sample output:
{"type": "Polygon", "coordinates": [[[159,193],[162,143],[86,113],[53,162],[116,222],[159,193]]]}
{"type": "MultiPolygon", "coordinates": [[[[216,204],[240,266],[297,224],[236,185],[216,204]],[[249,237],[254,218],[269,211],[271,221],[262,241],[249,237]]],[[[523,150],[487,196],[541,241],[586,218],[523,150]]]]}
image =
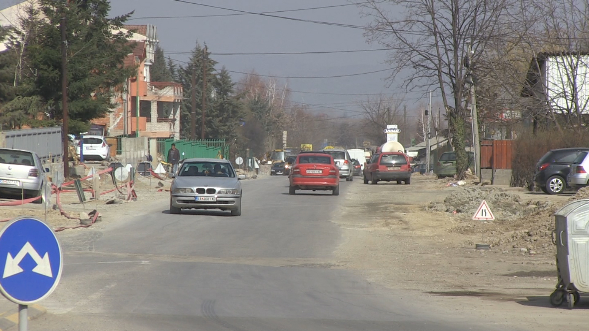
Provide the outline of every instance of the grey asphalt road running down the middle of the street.
{"type": "MultiPolygon", "coordinates": [[[[356,178],[358,180],[358,178],[356,178]]],[[[30,330],[495,330],[428,313],[333,268],[340,196],[289,196],[286,177],[244,181],[243,216],[168,214],[168,199],[104,231],[62,237],[62,282],[30,330]]],[[[451,307],[448,308],[451,310],[451,307]]]]}

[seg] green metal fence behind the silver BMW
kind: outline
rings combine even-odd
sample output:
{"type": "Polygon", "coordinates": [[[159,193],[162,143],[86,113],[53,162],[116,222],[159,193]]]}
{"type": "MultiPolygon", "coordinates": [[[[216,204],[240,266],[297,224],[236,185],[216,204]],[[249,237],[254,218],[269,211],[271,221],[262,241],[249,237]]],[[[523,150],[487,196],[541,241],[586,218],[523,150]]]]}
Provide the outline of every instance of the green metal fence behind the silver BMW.
{"type": "Polygon", "coordinates": [[[157,140],[157,152],[167,158],[168,151],[176,144],[181,158],[220,158],[229,159],[229,145],[224,140],[157,140]],[[184,155],[182,155],[184,153],[184,155]]]}

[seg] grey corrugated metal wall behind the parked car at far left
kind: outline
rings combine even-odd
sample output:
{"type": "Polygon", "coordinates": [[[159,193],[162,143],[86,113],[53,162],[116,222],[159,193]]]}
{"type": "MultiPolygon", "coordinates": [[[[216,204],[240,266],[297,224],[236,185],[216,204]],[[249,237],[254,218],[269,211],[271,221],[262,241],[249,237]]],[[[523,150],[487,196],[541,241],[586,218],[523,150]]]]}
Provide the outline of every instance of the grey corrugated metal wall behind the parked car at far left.
{"type": "Polygon", "coordinates": [[[61,157],[61,127],[6,131],[6,148],[34,151],[41,160],[61,157]]]}

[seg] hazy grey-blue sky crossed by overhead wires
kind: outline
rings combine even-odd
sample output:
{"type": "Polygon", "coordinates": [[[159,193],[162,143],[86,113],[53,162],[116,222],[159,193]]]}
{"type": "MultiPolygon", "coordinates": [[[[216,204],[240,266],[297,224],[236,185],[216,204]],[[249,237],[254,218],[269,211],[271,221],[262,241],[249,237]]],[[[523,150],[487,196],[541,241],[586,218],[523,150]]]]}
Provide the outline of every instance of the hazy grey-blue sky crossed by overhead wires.
{"type": "MultiPolygon", "coordinates": [[[[249,12],[282,11],[288,9],[312,8],[318,6],[349,4],[347,0],[187,0],[200,4],[222,6],[249,12]]],[[[160,46],[166,51],[190,51],[196,42],[206,42],[211,52],[315,52],[340,51],[348,49],[378,49],[369,45],[363,37],[363,30],[296,22],[287,19],[260,15],[239,15],[201,18],[147,18],[154,16],[187,16],[236,14],[235,12],[186,4],[174,0],[115,0],[112,1],[112,15],[135,11],[128,24],[153,24],[157,26],[160,46]]],[[[351,25],[365,25],[366,19],[359,14],[355,5],[338,8],[315,9],[277,13],[274,15],[314,21],[339,22],[351,25]]],[[[171,58],[186,61],[188,55],[170,55],[171,58]]],[[[343,54],[305,55],[214,55],[231,71],[290,77],[317,77],[356,74],[388,68],[383,64],[386,51],[356,52],[343,54]]],[[[288,86],[294,91],[321,93],[380,93],[403,92],[396,84],[386,88],[385,78],[389,72],[326,79],[290,79],[288,86]]],[[[232,74],[234,80],[239,74],[232,74]]],[[[286,80],[282,80],[286,82],[286,80]]],[[[331,104],[329,107],[358,110],[354,101],[366,98],[362,95],[322,95],[294,92],[291,99],[308,104],[331,104]],[[335,105],[335,103],[338,103],[335,105]]],[[[412,102],[413,103],[413,102],[412,102]]],[[[313,108],[326,114],[340,115],[337,110],[313,108]]],[[[353,113],[349,113],[350,115],[353,113]]]]}

